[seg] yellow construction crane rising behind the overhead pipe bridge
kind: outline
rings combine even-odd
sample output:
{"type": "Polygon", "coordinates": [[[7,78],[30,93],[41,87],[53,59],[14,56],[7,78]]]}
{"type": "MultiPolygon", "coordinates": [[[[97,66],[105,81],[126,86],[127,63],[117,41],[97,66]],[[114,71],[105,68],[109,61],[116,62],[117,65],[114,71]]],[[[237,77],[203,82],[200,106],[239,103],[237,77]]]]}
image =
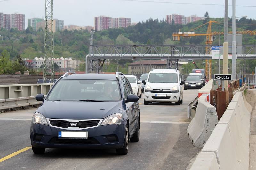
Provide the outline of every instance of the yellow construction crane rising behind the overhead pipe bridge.
{"type": "MultiPolygon", "coordinates": [[[[213,23],[218,23],[220,24],[220,22],[218,21],[212,21],[210,20],[209,22],[200,25],[192,30],[190,30],[189,32],[174,32],[172,34],[172,39],[174,41],[180,41],[180,37],[193,37],[193,36],[206,36],[206,41],[205,44],[206,45],[212,45],[212,41],[213,41],[213,36],[214,35],[223,35],[224,32],[212,32],[212,24],[213,23]],[[206,33],[202,33],[202,34],[198,34],[193,32],[194,30],[207,25],[208,24],[208,28],[207,28],[207,32],[206,33]]],[[[228,33],[232,34],[232,31],[229,31],[228,33]]],[[[256,35],[256,31],[250,31],[250,30],[243,30],[243,31],[236,31],[236,34],[250,34],[250,35],[256,35]]],[[[205,52],[209,53],[209,47],[206,46],[205,47],[205,52]]],[[[209,80],[211,79],[211,75],[212,75],[212,59],[206,59],[205,60],[205,75],[208,76],[209,80]]]]}

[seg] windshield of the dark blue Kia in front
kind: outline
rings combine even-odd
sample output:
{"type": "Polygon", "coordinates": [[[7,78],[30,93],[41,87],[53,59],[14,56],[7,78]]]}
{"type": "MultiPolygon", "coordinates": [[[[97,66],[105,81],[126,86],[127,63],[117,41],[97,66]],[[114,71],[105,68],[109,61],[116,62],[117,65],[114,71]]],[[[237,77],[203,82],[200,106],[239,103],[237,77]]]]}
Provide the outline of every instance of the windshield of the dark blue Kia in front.
{"type": "Polygon", "coordinates": [[[120,100],[115,80],[60,80],[47,96],[48,101],[117,101],[120,100]]]}

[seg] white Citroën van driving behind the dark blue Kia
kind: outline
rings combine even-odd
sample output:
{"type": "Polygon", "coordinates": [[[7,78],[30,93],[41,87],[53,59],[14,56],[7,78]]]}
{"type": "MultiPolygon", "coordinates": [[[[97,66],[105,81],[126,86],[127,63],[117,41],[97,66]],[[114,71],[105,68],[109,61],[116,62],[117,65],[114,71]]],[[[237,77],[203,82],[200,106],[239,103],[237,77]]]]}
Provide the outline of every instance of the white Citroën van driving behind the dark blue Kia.
{"type": "MultiPolygon", "coordinates": [[[[142,82],[143,83],[143,82],[142,82]]],[[[179,70],[152,69],[149,72],[144,88],[144,104],[152,102],[183,103],[183,87],[185,82],[180,78],[179,70]]]]}

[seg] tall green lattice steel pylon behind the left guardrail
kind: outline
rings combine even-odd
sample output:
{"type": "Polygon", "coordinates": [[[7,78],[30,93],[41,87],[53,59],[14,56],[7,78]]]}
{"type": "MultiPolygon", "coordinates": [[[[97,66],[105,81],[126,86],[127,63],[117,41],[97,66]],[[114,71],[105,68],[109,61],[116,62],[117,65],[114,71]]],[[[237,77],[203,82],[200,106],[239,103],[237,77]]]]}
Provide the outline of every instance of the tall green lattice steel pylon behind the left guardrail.
{"type": "Polygon", "coordinates": [[[45,0],[45,34],[44,34],[44,81],[51,75],[50,83],[54,79],[54,46],[53,46],[53,0],[45,0]]]}

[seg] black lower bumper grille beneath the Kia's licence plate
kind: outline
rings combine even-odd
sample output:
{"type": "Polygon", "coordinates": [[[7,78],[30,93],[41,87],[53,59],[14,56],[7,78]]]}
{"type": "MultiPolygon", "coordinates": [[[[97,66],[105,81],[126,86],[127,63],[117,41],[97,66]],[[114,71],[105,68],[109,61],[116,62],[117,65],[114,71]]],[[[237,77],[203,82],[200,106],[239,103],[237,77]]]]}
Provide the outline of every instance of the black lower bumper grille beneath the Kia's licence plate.
{"type": "Polygon", "coordinates": [[[69,145],[85,145],[85,144],[100,144],[95,138],[89,137],[88,139],[59,139],[53,137],[49,144],[69,144],[69,145]]]}

